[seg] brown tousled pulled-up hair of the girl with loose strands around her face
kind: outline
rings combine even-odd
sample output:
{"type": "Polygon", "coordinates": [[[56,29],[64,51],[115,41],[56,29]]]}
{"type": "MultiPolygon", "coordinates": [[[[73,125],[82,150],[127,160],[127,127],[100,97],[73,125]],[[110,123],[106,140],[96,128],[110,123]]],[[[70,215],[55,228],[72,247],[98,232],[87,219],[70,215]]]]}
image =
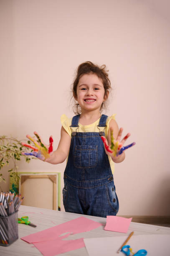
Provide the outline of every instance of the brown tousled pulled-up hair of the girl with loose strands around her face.
{"type": "MultiPolygon", "coordinates": [[[[104,86],[104,92],[105,92],[104,95],[108,97],[108,92],[111,90],[111,82],[109,79],[108,71],[109,70],[106,70],[106,65],[102,65],[101,67],[99,67],[98,65],[92,63],[91,61],[86,61],[84,63],[81,63],[77,68],[76,77],[74,79],[73,86],[72,86],[72,93],[73,93],[74,99],[77,98],[77,85],[79,83],[79,79],[84,74],[90,74],[90,73],[96,74],[102,80],[102,83],[104,86]]],[[[102,110],[102,108],[105,108],[105,107],[106,107],[106,101],[104,101],[101,104],[100,110],[102,110]]],[[[76,115],[81,113],[81,108],[79,106],[79,103],[76,103],[74,105],[73,110],[76,115]]]]}

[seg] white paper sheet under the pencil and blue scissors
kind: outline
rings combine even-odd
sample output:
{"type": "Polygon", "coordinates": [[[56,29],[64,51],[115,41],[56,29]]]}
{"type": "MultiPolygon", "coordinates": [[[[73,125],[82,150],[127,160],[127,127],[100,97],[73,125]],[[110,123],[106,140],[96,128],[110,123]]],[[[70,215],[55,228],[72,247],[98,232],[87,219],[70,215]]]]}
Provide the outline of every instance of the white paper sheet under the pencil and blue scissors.
{"type": "MultiPolygon", "coordinates": [[[[84,243],[89,256],[125,256],[124,253],[117,253],[120,246],[127,239],[127,236],[84,238],[84,243]]],[[[136,253],[145,249],[148,256],[169,256],[170,235],[138,235],[135,234],[127,242],[132,251],[136,253]]]]}

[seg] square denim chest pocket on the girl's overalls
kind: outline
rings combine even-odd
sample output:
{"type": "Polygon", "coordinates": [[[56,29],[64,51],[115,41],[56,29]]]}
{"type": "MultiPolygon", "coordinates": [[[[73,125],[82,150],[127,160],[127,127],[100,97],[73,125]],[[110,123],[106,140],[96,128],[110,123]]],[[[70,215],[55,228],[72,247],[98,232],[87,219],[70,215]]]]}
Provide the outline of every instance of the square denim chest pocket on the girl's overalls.
{"type": "Polygon", "coordinates": [[[97,165],[98,146],[76,145],[74,149],[74,166],[76,168],[94,168],[97,165]]]}

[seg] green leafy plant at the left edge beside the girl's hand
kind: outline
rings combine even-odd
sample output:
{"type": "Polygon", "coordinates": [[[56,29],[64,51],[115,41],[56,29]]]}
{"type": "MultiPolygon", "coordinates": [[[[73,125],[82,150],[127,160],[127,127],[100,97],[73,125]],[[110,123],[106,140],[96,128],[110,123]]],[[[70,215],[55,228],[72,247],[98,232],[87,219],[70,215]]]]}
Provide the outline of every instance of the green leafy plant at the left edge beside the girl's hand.
{"type": "MultiPolygon", "coordinates": [[[[23,140],[22,140],[23,141],[23,140]]],[[[28,141],[30,144],[30,141],[28,141]]],[[[17,138],[10,137],[3,135],[0,136],[0,182],[3,180],[5,182],[5,178],[3,178],[2,169],[4,166],[11,166],[8,170],[10,173],[10,177],[13,177],[15,180],[20,178],[18,175],[18,166],[17,161],[21,159],[25,159],[27,163],[29,163],[30,159],[28,156],[23,156],[21,152],[23,151],[23,145],[21,141],[17,138]]],[[[24,147],[24,151],[27,152],[27,148],[24,147]]]]}

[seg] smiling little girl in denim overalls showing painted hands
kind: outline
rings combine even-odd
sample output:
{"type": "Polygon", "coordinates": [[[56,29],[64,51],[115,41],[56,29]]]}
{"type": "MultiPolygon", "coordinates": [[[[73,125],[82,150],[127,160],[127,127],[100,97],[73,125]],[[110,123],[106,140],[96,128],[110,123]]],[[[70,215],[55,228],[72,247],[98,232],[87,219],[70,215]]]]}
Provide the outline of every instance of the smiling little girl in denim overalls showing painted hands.
{"type": "Polygon", "coordinates": [[[61,139],[57,150],[51,152],[52,137],[48,147],[36,132],[39,143],[27,136],[36,148],[23,143],[33,149],[33,153],[24,155],[34,155],[51,164],[62,163],[67,158],[63,188],[66,212],[106,218],[116,215],[119,210],[113,180],[114,162],[122,162],[124,149],[134,143],[123,147],[130,133],[121,141],[123,129],[118,128],[114,115],[101,115],[110,89],[105,65],[99,67],[90,61],[80,64],[73,84],[76,115],[71,119],[61,116],[61,139]]]}

